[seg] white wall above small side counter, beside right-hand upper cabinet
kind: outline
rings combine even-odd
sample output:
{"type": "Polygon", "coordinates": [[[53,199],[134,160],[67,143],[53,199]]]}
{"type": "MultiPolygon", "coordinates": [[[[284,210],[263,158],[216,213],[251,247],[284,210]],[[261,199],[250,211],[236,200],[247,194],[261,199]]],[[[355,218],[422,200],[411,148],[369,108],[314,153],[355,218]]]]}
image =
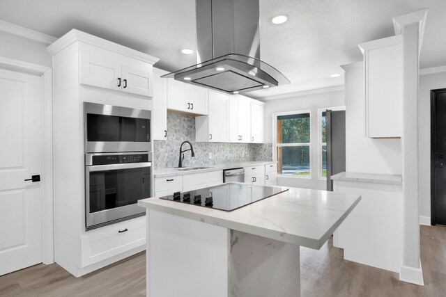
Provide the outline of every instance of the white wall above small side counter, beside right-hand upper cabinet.
{"type": "Polygon", "coordinates": [[[346,171],[401,175],[401,139],[365,136],[362,62],[343,67],[346,70],[346,171]]]}

